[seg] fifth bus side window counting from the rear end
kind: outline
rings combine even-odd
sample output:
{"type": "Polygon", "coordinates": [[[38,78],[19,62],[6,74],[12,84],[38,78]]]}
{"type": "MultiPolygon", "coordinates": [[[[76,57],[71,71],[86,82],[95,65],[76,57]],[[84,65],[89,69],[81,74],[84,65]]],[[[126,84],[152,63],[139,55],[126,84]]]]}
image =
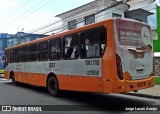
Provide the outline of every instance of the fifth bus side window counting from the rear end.
{"type": "Polygon", "coordinates": [[[29,61],[37,61],[37,44],[29,45],[29,61]]]}

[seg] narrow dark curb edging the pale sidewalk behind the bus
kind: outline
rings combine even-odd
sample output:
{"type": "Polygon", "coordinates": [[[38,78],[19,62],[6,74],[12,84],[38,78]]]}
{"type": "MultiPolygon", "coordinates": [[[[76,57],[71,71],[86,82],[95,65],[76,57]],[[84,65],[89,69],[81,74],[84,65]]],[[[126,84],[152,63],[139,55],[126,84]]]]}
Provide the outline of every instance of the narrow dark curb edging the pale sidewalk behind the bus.
{"type": "Polygon", "coordinates": [[[132,95],[132,96],[160,99],[160,96],[153,96],[153,95],[147,95],[147,94],[142,94],[142,93],[125,93],[125,94],[126,95],[132,95]]]}

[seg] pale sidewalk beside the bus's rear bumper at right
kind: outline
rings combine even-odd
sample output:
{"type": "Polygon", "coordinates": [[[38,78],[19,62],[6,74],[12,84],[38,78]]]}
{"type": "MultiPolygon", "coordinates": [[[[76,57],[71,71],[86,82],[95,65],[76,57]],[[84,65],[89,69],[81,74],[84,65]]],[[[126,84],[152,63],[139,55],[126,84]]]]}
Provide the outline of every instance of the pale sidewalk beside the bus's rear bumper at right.
{"type": "Polygon", "coordinates": [[[160,99],[160,85],[155,85],[152,88],[148,88],[144,90],[138,90],[138,92],[128,92],[126,94],[140,96],[140,97],[160,99]]]}

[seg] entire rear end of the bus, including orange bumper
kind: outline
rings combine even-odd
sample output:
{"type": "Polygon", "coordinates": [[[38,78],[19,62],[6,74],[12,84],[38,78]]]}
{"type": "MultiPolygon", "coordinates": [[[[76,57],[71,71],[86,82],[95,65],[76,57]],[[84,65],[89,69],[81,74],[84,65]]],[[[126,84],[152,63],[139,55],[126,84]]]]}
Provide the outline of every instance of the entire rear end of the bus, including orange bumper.
{"type": "MultiPolygon", "coordinates": [[[[121,21],[117,19],[115,20],[114,27],[116,34],[115,49],[116,54],[120,57],[119,67],[122,70],[122,79],[117,79],[113,82],[115,85],[113,87],[113,93],[123,93],[153,87],[155,85],[153,44],[149,26],[133,20],[121,21]],[[144,39],[146,37],[144,35],[148,35],[146,40],[144,39]]],[[[116,78],[118,78],[118,72],[116,78]]]]}

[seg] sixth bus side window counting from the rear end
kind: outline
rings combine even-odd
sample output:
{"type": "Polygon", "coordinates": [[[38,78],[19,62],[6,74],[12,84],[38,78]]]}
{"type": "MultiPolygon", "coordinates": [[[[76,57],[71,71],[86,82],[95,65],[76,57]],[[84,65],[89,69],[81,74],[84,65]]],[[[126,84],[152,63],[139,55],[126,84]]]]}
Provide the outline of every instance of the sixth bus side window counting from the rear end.
{"type": "Polygon", "coordinates": [[[23,46],[21,49],[21,62],[28,62],[28,46],[23,46]]]}

